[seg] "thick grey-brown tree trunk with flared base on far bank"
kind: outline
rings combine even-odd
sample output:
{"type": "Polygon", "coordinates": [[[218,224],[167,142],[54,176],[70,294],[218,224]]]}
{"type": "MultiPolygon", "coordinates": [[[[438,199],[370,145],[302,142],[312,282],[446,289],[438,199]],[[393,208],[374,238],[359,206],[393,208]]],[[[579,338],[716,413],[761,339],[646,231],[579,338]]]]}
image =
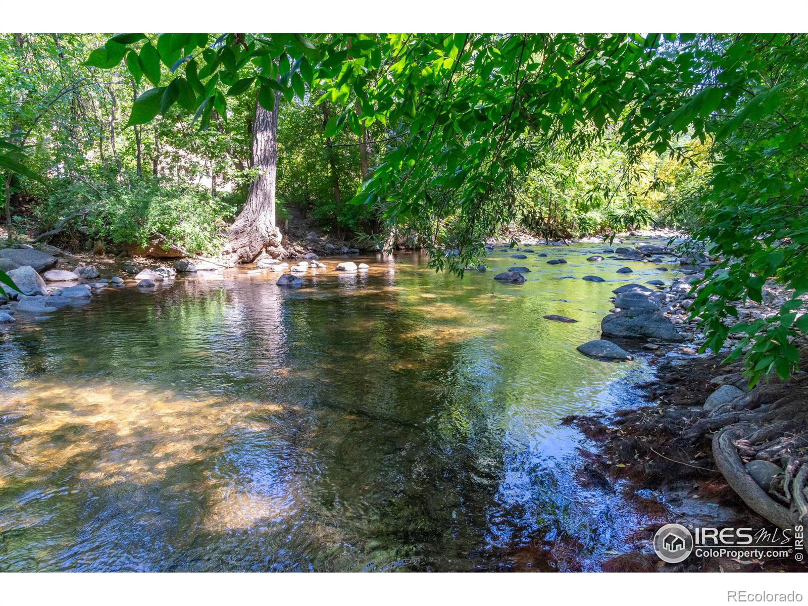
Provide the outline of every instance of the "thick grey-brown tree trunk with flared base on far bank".
{"type": "Polygon", "coordinates": [[[250,263],[265,249],[270,254],[283,251],[280,229],[275,225],[279,109],[280,96],[277,93],[271,112],[255,103],[250,163],[259,169],[259,175],[250,183],[244,208],[230,227],[227,252],[237,263],[250,263]]]}

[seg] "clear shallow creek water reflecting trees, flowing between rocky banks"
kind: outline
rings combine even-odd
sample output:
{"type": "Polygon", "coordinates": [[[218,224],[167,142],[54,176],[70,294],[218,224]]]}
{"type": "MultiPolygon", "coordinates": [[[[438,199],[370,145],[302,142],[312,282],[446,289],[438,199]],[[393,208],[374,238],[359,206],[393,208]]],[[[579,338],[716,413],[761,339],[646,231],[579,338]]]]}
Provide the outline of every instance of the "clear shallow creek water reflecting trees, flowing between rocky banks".
{"type": "Polygon", "coordinates": [[[569,263],[497,250],[460,280],[418,254],[324,259],[295,291],[200,272],[17,314],[0,570],[597,570],[642,519],[579,486],[586,442],[558,421],[632,404],[649,371],[575,347],[612,288],[672,272],[531,248],[569,263]],[[494,281],[513,265],[528,282],[494,281]]]}

